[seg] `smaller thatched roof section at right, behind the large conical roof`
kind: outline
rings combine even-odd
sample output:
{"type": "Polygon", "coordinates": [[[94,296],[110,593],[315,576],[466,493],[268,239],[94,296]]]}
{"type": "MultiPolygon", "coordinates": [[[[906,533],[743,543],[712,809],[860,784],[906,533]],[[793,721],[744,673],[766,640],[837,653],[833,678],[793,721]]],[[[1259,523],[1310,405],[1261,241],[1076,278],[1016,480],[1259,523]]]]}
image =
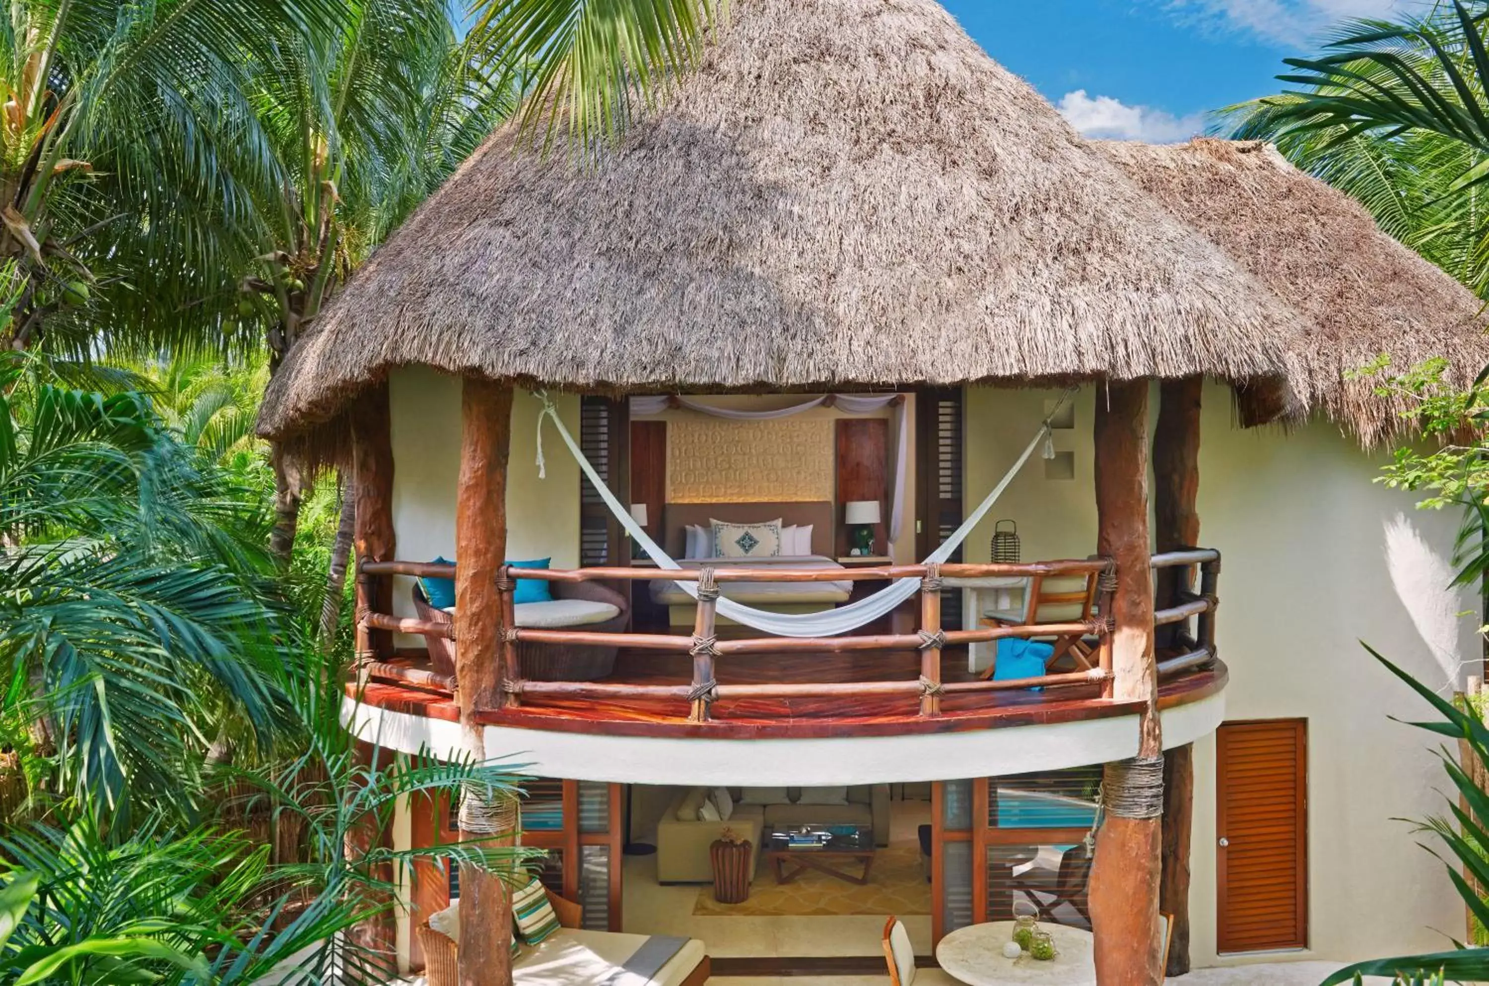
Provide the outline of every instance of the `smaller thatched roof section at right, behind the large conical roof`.
{"type": "Polygon", "coordinates": [[[1187,144],[1097,141],[1144,190],[1214,239],[1315,330],[1297,344],[1331,381],[1316,403],[1367,445],[1409,431],[1403,400],[1379,378],[1349,379],[1379,354],[1406,370],[1449,357],[1449,378],[1473,382],[1489,364],[1483,303],[1376,226],[1359,202],[1292,167],[1270,144],[1197,138],[1187,144]]]}

